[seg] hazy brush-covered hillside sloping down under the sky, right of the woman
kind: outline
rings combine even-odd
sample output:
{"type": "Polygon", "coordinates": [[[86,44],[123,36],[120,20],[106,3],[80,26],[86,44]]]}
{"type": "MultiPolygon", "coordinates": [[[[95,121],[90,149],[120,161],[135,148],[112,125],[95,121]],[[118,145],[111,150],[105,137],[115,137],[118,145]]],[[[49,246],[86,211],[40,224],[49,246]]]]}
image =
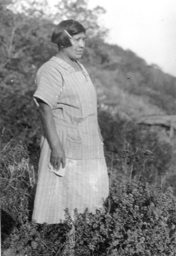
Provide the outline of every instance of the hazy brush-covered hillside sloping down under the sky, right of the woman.
{"type": "MultiPolygon", "coordinates": [[[[94,43],[91,46],[95,47],[94,43]]],[[[175,114],[175,77],[163,73],[156,65],[148,66],[144,59],[129,50],[98,42],[96,47],[99,51],[94,48],[92,56],[96,57],[91,61],[96,63],[96,72],[95,68],[88,69],[101,104],[112,111],[125,112],[127,116],[175,114]]]]}

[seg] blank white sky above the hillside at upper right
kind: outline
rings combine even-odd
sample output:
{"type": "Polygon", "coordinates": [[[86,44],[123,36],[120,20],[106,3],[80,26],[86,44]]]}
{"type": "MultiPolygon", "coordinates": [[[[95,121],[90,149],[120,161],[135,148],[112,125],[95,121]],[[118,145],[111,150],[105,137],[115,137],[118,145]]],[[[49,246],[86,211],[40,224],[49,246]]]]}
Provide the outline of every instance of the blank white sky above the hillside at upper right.
{"type": "MultiPolygon", "coordinates": [[[[57,0],[48,0],[57,3],[57,0]]],[[[176,77],[176,0],[87,0],[88,7],[106,10],[100,24],[109,29],[106,41],[131,50],[148,65],[176,77]]]]}

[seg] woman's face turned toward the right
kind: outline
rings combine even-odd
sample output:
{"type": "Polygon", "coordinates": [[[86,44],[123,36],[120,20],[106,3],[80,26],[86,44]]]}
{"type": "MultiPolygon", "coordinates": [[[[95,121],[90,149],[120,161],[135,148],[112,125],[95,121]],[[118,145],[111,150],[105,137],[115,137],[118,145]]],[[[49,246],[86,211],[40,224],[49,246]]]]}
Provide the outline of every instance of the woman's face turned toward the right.
{"type": "Polygon", "coordinates": [[[85,47],[85,34],[81,32],[70,38],[72,46],[64,48],[63,51],[70,59],[80,59],[85,47]]]}

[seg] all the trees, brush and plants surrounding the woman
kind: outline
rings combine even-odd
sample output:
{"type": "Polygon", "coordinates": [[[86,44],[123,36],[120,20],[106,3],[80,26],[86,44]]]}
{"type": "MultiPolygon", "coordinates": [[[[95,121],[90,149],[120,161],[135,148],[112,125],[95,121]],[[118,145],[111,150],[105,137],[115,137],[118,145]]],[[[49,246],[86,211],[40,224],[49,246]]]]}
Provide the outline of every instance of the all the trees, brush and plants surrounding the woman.
{"type": "Polygon", "coordinates": [[[175,113],[176,78],[106,44],[107,30],[98,25],[101,7],[89,10],[86,1],[62,0],[53,15],[45,1],[0,2],[4,255],[175,255],[175,145],[167,131],[135,120],[142,114],[175,113]],[[89,28],[82,62],[98,95],[111,189],[96,215],[75,209],[73,223],[68,209],[64,223],[39,225],[31,222],[41,134],[32,95],[36,70],[57,52],[50,36],[58,17],[79,19],[89,28]]]}

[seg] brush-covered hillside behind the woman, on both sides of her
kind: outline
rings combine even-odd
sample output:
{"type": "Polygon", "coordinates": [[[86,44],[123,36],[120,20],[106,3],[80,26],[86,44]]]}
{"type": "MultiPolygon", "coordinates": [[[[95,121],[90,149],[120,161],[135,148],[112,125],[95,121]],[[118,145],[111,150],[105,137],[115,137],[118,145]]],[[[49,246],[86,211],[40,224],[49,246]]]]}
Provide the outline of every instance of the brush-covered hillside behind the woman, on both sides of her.
{"type": "MultiPolygon", "coordinates": [[[[9,10],[2,10],[3,16],[9,34],[3,34],[2,27],[1,37],[9,50],[13,49],[7,59],[1,45],[1,130],[5,126],[6,143],[24,123],[32,126],[32,134],[35,134],[39,122],[32,101],[35,73],[43,62],[57,53],[57,47],[50,42],[53,29],[50,20],[36,20],[35,17],[29,20],[23,14],[15,16],[9,10]],[[13,45],[10,45],[6,37],[12,35],[14,18],[19,28],[16,28],[13,45]],[[24,24],[20,22],[23,19],[24,24]]],[[[175,114],[176,78],[164,74],[159,67],[148,66],[135,53],[105,44],[101,37],[95,36],[87,41],[82,63],[95,84],[99,108],[119,113],[127,119],[175,114]]]]}

